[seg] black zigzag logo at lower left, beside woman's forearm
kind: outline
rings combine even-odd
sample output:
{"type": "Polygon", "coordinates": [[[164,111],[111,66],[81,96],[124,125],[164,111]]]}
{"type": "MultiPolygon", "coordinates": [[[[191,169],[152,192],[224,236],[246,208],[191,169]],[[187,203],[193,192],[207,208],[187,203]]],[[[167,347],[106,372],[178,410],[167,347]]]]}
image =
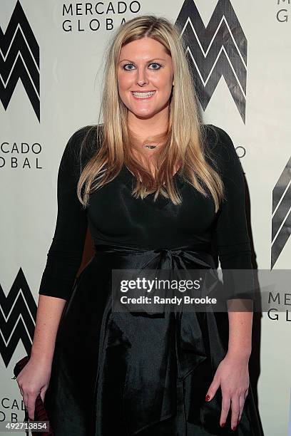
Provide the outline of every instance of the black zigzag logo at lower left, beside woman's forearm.
{"type": "Polygon", "coordinates": [[[36,309],[36,302],[20,268],[7,296],[0,285],[0,353],[6,368],[19,341],[24,344],[26,353],[30,353],[36,309]]]}

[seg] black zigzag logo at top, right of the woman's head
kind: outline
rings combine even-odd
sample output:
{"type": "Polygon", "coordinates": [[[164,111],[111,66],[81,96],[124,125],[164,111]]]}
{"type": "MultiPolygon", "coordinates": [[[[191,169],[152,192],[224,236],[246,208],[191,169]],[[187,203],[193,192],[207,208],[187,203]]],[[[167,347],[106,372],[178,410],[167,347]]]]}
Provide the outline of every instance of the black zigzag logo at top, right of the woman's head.
{"type": "Polygon", "coordinates": [[[247,38],[229,0],[219,0],[204,26],[193,0],[185,0],[175,22],[187,43],[187,57],[203,110],[221,76],[245,123],[247,38]]]}

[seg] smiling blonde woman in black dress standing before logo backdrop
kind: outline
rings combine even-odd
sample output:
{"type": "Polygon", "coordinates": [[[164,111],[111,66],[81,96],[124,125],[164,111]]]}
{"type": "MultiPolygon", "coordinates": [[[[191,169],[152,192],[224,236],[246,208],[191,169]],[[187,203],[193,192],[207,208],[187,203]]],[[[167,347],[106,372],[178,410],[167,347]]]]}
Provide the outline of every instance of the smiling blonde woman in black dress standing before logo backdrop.
{"type": "Polygon", "coordinates": [[[252,268],[240,161],[223,130],[200,122],[184,53],[166,19],[121,26],[103,124],[63,152],[31,358],[17,378],[30,417],[41,392],[57,436],[260,435],[251,311],[229,311],[225,336],[221,313],[111,306],[113,269],[215,269],[217,254],[223,270],[252,268]],[[88,225],[96,255],[75,282],[88,225]]]}

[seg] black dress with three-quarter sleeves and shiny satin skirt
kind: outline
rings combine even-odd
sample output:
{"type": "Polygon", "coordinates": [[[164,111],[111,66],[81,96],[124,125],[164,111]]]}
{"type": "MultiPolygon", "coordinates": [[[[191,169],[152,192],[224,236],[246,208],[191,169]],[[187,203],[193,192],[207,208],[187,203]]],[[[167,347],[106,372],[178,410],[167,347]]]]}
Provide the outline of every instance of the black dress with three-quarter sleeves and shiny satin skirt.
{"type": "Polygon", "coordinates": [[[208,147],[227,200],[215,214],[179,173],[183,204],[131,195],[133,175],[93,192],[88,209],[76,195],[96,150],[90,127],[72,135],[58,171],[58,217],[39,294],[66,299],[56,336],[45,406],[56,436],[259,436],[251,386],[238,429],[220,427],[220,388],[205,394],[228,346],[227,313],[118,313],[111,306],[112,269],[250,269],[244,181],[233,142],[206,125],[208,147]],[[79,160],[83,136],[89,145],[79,160]],[[76,278],[89,226],[96,254],[76,278]]]}

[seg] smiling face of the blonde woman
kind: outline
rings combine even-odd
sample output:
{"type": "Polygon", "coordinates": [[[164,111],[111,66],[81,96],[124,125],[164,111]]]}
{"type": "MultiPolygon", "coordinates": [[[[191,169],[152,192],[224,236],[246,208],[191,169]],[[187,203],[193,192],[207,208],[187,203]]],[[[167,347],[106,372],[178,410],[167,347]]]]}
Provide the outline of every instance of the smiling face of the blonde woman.
{"type": "Polygon", "coordinates": [[[165,109],[172,85],[172,58],[165,52],[163,44],[152,38],[142,38],[121,48],[119,95],[136,117],[151,118],[165,109]]]}

